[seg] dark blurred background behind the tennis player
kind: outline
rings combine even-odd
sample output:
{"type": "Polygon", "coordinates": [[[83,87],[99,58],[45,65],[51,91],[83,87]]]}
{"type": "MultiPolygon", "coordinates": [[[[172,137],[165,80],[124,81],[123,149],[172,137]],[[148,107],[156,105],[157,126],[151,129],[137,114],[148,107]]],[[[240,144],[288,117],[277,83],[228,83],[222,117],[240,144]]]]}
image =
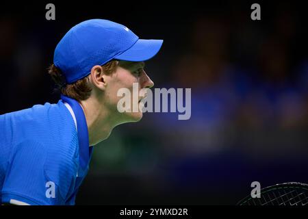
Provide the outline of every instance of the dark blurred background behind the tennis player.
{"type": "Polygon", "coordinates": [[[146,113],[116,127],[95,146],[77,205],[234,205],[253,181],[308,183],[303,1],[1,3],[0,114],[57,102],[53,51],[90,18],[164,39],[146,72],[155,88],[192,88],[192,116],[146,113]],[[261,21],[251,20],[252,3],[261,21]]]}

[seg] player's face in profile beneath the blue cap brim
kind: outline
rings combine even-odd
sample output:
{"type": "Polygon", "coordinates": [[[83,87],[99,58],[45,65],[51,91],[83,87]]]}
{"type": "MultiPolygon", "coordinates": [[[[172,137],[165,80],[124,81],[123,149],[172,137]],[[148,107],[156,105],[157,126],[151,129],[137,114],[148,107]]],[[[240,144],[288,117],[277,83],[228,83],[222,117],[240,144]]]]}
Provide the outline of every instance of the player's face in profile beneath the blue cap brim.
{"type": "Polygon", "coordinates": [[[123,123],[136,122],[142,118],[142,112],[139,110],[140,100],[144,98],[144,94],[140,93],[142,88],[151,88],[154,86],[153,81],[146,75],[144,71],[144,62],[127,62],[119,61],[116,71],[111,75],[108,75],[107,86],[105,89],[105,100],[109,107],[115,110],[117,117],[123,123]],[[133,83],[138,83],[138,95],[137,99],[133,98],[133,83]],[[121,88],[127,88],[130,91],[130,106],[131,112],[118,112],[118,101],[123,99],[123,96],[118,96],[118,90],[121,88]],[[133,103],[137,101],[138,103],[133,103]],[[138,105],[138,112],[133,112],[133,104],[138,105]]]}

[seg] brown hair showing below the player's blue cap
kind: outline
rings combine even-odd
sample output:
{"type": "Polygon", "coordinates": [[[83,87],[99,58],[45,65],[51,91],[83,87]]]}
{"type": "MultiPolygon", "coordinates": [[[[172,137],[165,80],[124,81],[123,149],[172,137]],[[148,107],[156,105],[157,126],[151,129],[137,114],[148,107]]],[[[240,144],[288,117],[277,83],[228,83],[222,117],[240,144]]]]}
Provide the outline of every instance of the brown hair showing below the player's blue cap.
{"type": "MultiPolygon", "coordinates": [[[[104,64],[102,66],[104,73],[107,75],[113,73],[116,70],[117,64],[118,62],[116,60],[104,64]]],[[[51,79],[55,82],[55,92],[60,92],[77,101],[84,101],[89,98],[92,92],[92,88],[89,84],[89,76],[68,84],[66,83],[65,77],[60,68],[57,68],[54,64],[49,66],[48,73],[51,75],[51,79]]]]}

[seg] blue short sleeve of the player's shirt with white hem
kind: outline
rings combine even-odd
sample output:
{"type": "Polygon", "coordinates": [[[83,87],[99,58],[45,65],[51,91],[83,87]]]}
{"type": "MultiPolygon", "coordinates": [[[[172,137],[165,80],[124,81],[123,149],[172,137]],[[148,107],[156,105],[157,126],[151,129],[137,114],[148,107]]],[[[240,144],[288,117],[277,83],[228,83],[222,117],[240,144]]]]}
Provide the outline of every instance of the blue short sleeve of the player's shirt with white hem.
{"type": "Polygon", "coordinates": [[[2,203],[65,204],[59,181],[46,174],[48,155],[48,148],[40,142],[25,140],[14,145],[1,191],[2,203]]]}

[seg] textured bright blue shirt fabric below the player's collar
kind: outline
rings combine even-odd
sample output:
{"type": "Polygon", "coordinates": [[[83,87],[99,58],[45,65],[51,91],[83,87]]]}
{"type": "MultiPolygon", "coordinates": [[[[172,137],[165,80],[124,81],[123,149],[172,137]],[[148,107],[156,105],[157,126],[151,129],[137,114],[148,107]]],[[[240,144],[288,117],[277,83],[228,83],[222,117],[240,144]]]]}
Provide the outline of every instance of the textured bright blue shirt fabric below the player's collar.
{"type": "Polygon", "coordinates": [[[0,130],[0,203],[74,205],[90,156],[79,170],[78,133],[63,101],[3,114],[0,130]],[[48,182],[55,185],[54,198],[46,195],[48,182]]]}

